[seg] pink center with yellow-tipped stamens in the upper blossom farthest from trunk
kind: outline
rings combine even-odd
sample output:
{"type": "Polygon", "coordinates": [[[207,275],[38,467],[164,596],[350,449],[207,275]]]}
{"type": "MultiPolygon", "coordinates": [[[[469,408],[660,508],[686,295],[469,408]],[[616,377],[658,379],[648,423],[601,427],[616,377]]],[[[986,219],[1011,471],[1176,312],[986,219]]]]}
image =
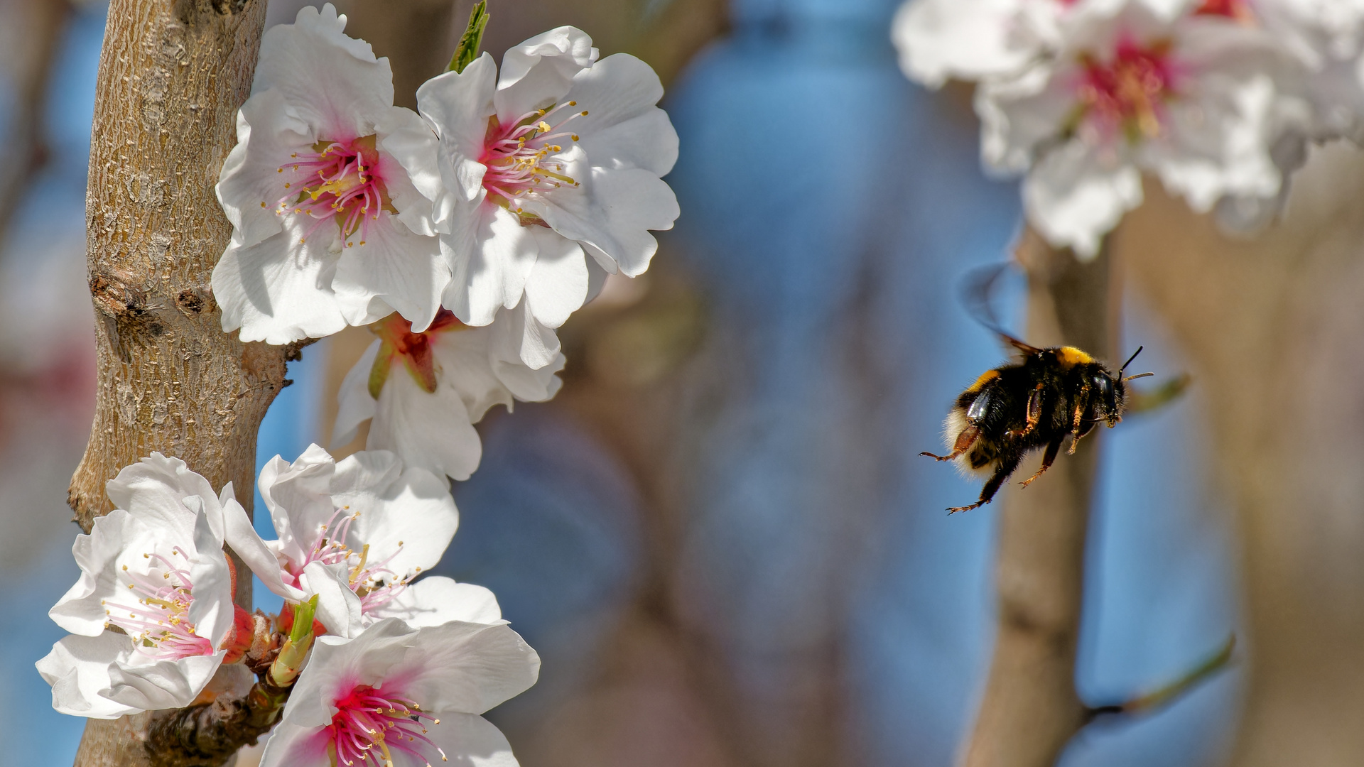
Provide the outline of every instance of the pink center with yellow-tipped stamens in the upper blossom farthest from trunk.
{"type": "Polygon", "coordinates": [[[510,123],[498,123],[496,116],[488,119],[483,156],[479,157],[479,162],[487,167],[483,188],[488,190],[488,199],[521,213],[521,197],[554,191],[565,184],[578,186],[563,175],[563,164],[550,161],[551,156],[563,151],[565,138],[578,141],[577,134],[561,130],[569,120],[587,116],[587,109],[562,115],[562,109],[577,105],[577,101],[555,104],[510,123]],[[557,121],[551,124],[550,120],[557,121]]]}

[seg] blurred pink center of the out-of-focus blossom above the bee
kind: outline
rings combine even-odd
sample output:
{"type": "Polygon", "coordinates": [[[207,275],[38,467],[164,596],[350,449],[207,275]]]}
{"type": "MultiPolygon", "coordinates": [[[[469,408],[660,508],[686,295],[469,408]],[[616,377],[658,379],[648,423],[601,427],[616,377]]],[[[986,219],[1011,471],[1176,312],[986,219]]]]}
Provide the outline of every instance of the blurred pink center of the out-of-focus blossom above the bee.
{"type": "Polygon", "coordinates": [[[1080,119],[1120,130],[1133,143],[1159,135],[1165,104],[1177,96],[1168,40],[1150,45],[1121,40],[1112,60],[1083,55],[1080,64],[1080,119]]]}

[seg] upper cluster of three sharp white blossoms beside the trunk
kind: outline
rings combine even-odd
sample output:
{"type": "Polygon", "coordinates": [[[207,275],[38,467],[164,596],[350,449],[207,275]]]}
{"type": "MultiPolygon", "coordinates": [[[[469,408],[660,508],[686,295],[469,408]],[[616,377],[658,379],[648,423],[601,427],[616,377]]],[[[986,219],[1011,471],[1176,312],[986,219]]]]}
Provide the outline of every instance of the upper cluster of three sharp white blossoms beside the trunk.
{"type": "Polygon", "coordinates": [[[370,325],[336,434],[372,419],[368,449],[466,479],[472,424],[552,397],[555,329],[608,274],[648,269],[649,232],[678,217],[660,179],[677,132],[653,70],[599,60],[574,27],[509,49],[501,72],[471,56],[417,90],[417,112],[344,27],[304,8],[262,40],[218,182],[233,237],[213,292],[244,341],[370,325]]]}

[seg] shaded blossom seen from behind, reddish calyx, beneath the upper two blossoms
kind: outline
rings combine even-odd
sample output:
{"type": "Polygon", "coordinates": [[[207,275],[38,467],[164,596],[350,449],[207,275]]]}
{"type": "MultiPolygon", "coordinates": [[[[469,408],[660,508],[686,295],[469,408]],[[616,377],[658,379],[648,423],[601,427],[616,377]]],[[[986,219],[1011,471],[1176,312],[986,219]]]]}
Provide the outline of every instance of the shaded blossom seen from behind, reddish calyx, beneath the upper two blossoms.
{"type": "Polygon", "coordinates": [[[393,450],[408,465],[468,479],[483,454],[473,424],[488,408],[544,401],[562,384],[557,349],[540,368],[506,353],[506,336],[516,333],[506,314],[484,328],[464,325],[449,310],[423,333],[401,317],[372,326],[378,338],[341,382],[333,446],[349,442],[370,420],[367,449],[393,450]]]}

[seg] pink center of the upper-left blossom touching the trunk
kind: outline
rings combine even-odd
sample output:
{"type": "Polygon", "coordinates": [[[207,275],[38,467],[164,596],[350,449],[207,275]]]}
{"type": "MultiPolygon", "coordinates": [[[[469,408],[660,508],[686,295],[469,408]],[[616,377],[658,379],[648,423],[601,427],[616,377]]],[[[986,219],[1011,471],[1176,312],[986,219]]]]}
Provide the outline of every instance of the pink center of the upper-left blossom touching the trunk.
{"type": "MultiPolygon", "coordinates": [[[[291,158],[293,169],[303,172],[301,188],[295,192],[291,188],[295,182],[285,183],[284,188],[291,191],[280,198],[277,213],[307,214],[318,220],[303,242],[323,221],[334,220],[342,239],[349,240],[360,232],[360,244],[364,244],[371,221],[376,221],[385,210],[397,213],[379,177],[374,135],[346,142],[319,141],[312,145],[312,151],[296,151],[291,158]]],[[[282,167],[280,172],[284,172],[282,167]]],[[[352,244],[346,242],[346,247],[352,244]]]]}

